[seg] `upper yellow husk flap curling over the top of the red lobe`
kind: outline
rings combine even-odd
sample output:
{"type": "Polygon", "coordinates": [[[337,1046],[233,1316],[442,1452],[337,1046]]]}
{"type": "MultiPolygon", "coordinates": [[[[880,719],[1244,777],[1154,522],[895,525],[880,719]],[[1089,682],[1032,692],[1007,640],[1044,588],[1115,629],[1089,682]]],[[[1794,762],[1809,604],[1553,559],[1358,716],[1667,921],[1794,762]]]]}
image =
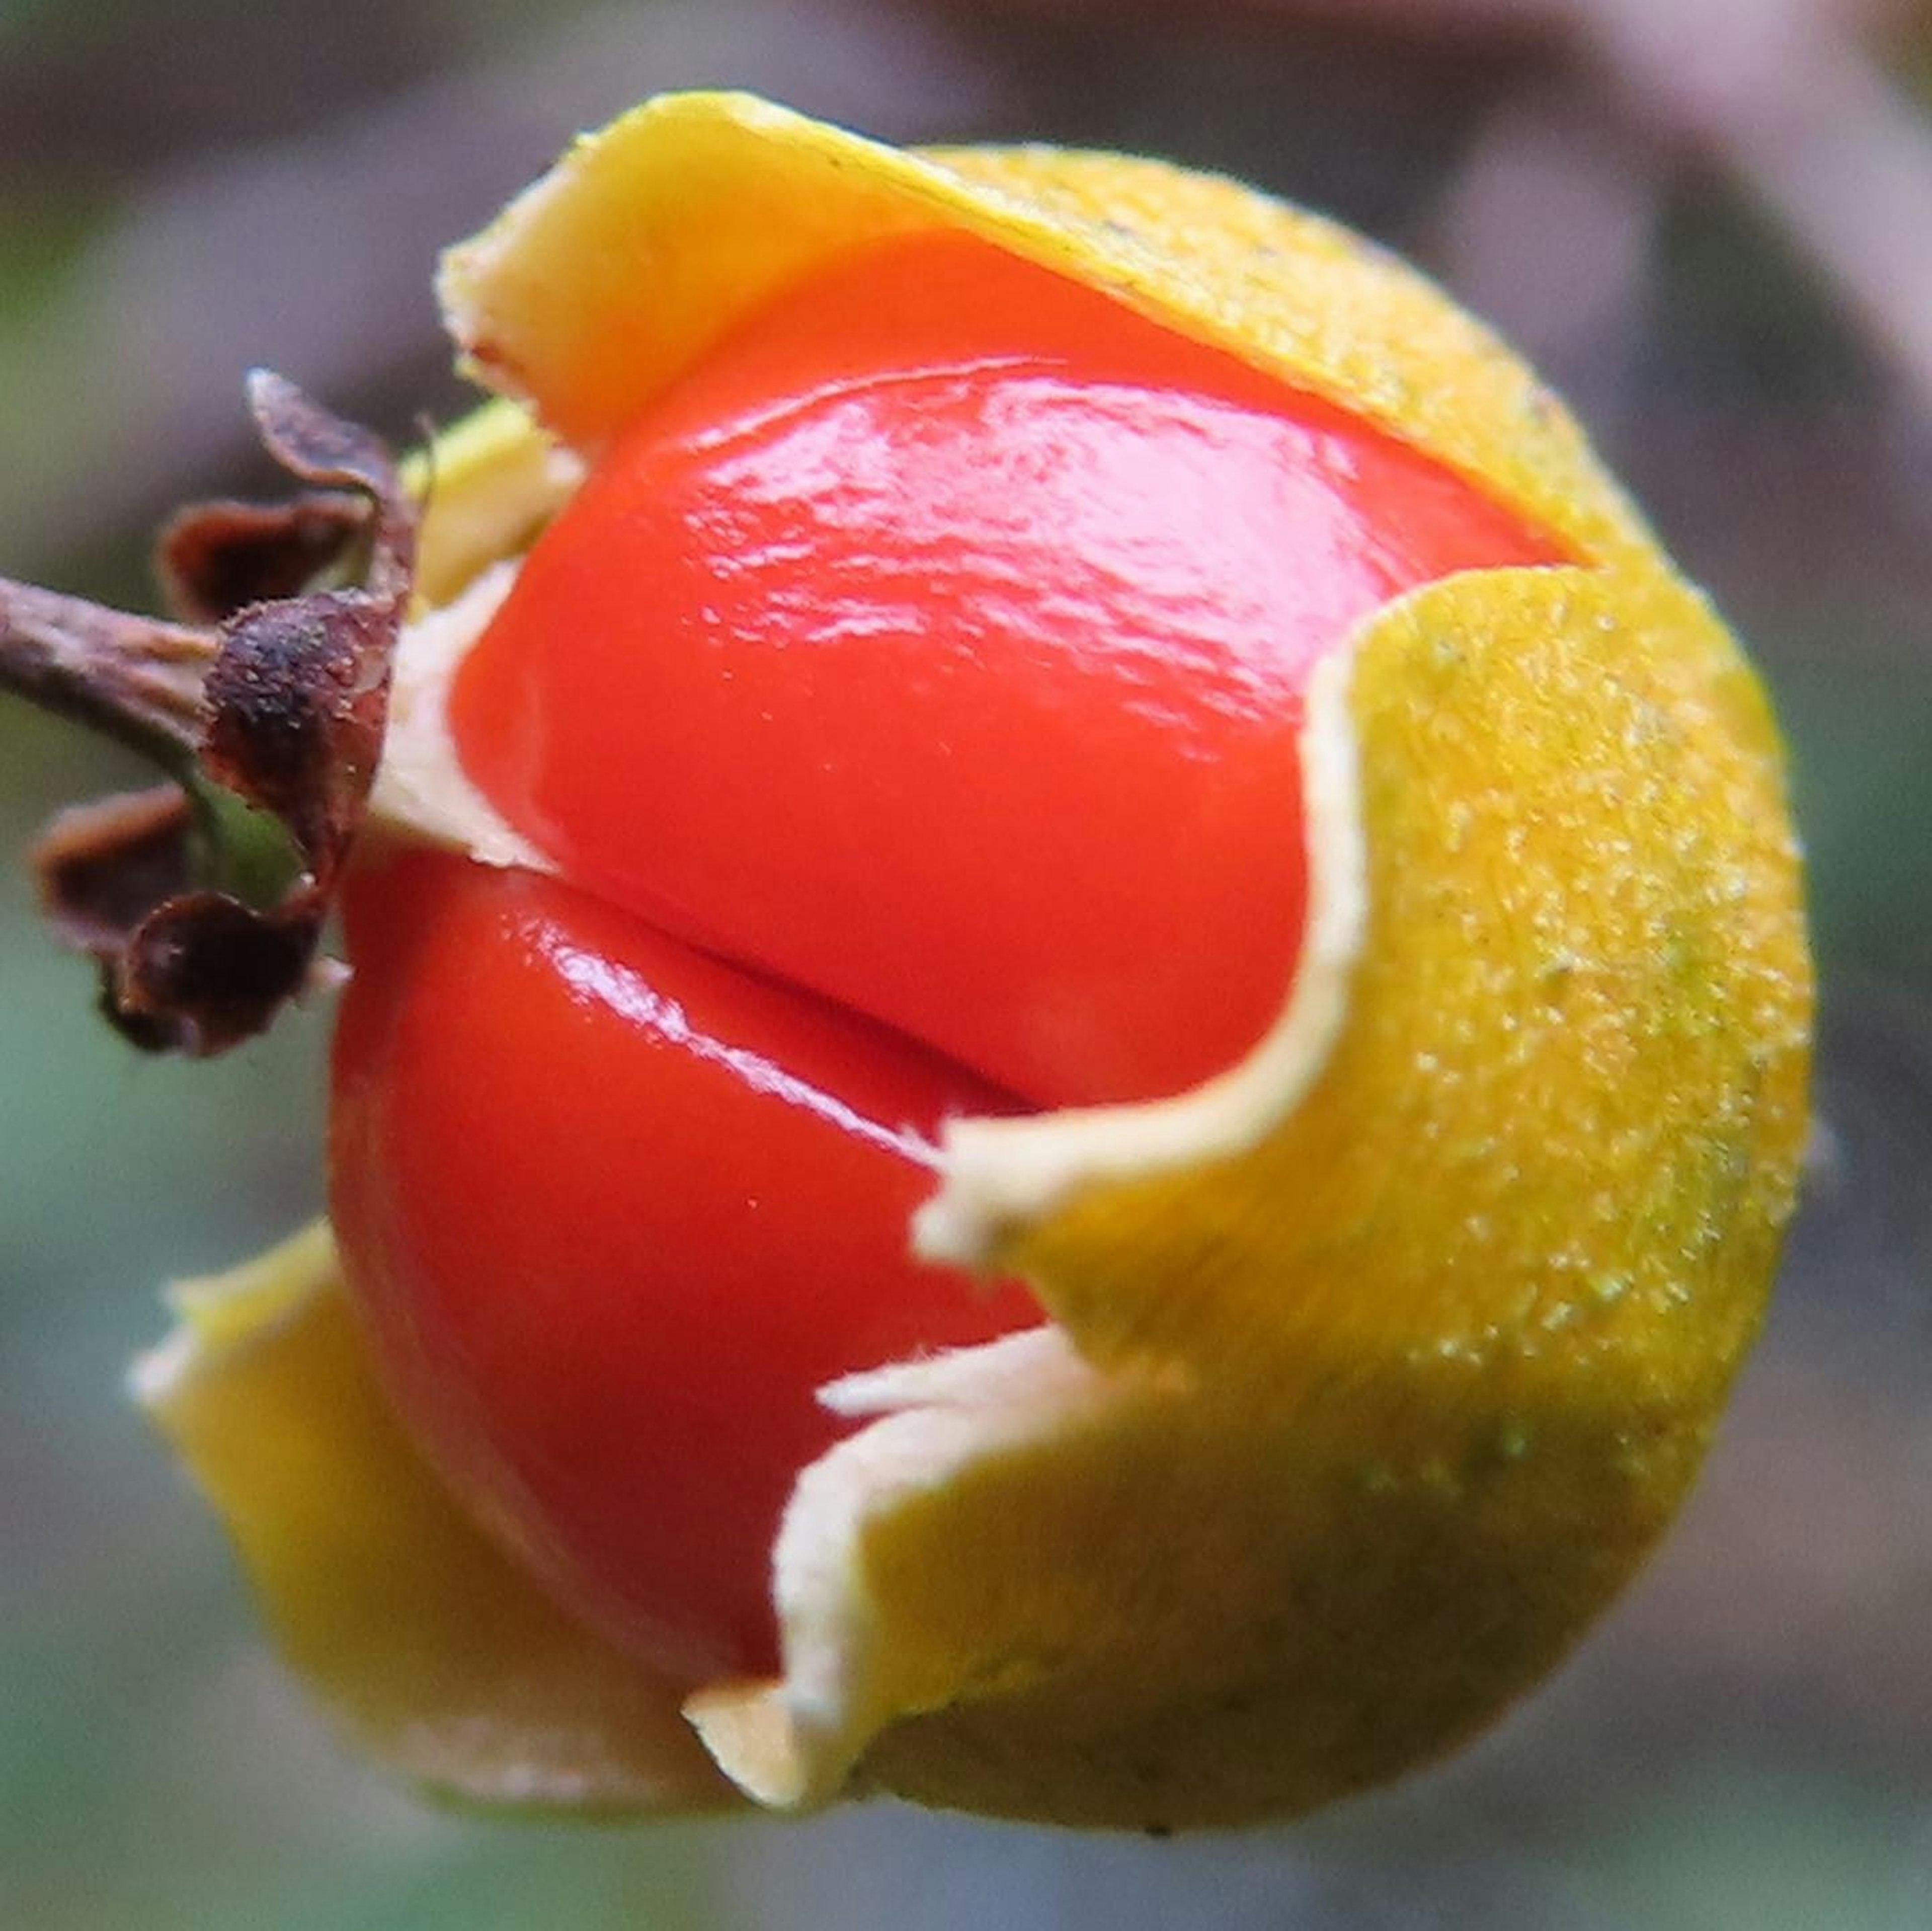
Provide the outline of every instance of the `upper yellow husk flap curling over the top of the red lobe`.
{"type": "Polygon", "coordinates": [[[1219,176],[1047,147],[906,155],[750,95],[585,135],[448,251],[466,365],[595,454],[738,317],[846,249],[966,228],[1428,450],[1580,557],[1656,551],[1569,412],[1430,280],[1219,176]]]}

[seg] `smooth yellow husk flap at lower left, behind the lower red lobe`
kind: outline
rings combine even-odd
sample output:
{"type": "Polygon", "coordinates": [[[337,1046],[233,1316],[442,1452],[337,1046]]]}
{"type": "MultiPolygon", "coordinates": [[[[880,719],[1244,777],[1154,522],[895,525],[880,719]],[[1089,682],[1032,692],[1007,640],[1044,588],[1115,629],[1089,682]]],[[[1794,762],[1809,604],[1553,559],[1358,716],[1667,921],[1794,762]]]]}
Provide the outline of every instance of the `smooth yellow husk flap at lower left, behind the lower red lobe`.
{"type": "Polygon", "coordinates": [[[415,1457],[325,1225],[172,1299],[182,1326],[137,1392],[359,1747],[471,1801],[732,1801],[678,1699],[545,1600],[415,1457]]]}

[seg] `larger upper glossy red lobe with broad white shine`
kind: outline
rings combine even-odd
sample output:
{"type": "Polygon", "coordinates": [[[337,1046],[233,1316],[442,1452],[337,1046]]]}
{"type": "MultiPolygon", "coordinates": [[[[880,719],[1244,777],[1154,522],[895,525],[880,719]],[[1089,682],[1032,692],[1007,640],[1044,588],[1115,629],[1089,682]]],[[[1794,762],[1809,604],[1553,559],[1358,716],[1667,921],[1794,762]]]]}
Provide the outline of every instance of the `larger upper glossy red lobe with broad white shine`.
{"type": "Polygon", "coordinates": [[[1551,555],[1233,356],[920,236],[632,427],[454,725],[653,924],[1036,1102],[1151,1098],[1281,1009],[1312,663],[1403,590],[1551,555]]]}

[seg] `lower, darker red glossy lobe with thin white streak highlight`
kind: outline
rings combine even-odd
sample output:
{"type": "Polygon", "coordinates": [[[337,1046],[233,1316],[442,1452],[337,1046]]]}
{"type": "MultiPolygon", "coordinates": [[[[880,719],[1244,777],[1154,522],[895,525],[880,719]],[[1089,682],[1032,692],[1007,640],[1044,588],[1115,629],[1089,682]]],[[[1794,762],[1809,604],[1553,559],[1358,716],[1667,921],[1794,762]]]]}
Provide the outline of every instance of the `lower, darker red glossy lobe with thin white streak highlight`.
{"type": "Polygon", "coordinates": [[[771,1670],[813,1390],[1039,1318],[906,1256],[918,1133],[999,1096],[527,872],[377,858],[346,912],[332,1212],[402,1413],[618,1641],[771,1670]]]}

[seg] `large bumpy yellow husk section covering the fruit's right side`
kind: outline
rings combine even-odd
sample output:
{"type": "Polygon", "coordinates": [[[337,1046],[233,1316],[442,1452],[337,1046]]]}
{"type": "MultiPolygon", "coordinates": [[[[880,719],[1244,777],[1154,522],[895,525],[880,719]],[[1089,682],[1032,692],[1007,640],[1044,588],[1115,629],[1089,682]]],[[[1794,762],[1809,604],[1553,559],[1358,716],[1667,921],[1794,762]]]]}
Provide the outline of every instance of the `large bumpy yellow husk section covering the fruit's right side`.
{"type": "Polygon", "coordinates": [[[1252,1154],[1095,1189],[999,1256],[1101,1365],[1179,1367],[867,1542],[927,1801],[1294,1811],[1534,1682],[1696,1473],[1804,1137],[1776,744],[1689,597],[1464,578],[1354,684],[1370,943],[1252,1154]]]}

